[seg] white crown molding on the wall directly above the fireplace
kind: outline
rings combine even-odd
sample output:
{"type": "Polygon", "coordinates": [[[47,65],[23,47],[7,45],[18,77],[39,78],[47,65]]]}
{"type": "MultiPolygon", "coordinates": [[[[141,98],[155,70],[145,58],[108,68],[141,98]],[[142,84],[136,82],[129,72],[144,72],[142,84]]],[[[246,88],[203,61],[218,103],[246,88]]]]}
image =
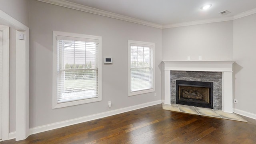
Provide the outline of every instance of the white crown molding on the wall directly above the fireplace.
{"type": "Polygon", "coordinates": [[[208,24],[213,22],[224,22],[224,21],[230,21],[230,20],[233,20],[232,16],[222,17],[222,18],[213,18],[213,19],[207,19],[207,20],[196,20],[192,22],[182,22],[177,24],[166,24],[166,25],[163,25],[162,28],[164,29],[164,28],[176,28],[181,26],[193,26],[197,24],[208,24]]]}

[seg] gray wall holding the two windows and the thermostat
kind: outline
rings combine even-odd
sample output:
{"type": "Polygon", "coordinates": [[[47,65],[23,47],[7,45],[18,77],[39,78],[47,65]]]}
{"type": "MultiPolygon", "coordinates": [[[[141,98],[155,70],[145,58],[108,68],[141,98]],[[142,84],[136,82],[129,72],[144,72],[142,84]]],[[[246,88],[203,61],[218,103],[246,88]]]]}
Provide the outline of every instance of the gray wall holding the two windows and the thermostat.
{"type": "Polygon", "coordinates": [[[30,0],[30,128],[161,99],[162,30],[30,0]],[[102,101],[52,109],[52,31],[102,36],[102,101]],[[155,43],[156,93],[128,97],[128,40],[155,43]],[[108,108],[108,101],[112,107],[108,108]]]}

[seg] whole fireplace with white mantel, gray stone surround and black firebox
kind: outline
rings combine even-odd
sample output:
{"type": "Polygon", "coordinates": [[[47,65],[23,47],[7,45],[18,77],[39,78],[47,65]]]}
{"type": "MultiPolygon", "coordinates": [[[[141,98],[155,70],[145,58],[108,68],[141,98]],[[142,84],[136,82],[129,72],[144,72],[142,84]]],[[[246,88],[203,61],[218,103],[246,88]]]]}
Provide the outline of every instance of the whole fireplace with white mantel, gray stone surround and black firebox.
{"type": "Polygon", "coordinates": [[[213,108],[232,113],[232,64],[235,61],[236,60],[163,61],[165,69],[164,104],[176,104],[177,102],[184,104],[185,101],[184,105],[192,105],[196,102],[199,103],[199,107],[213,108]],[[192,84],[185,82],[185,84],[179,85],[178,83],[180,81],[189,81],[192,82],[192,84]],[[193,84],[193,82],[195,83],[193,84]],[[197,82],[206,82],[208,86],[200,86],[200,84],[195,86],[197,82]],[[212,88],[209,88],[211,84],[212,88]],[[200,90],[201,87],[203,87],[202,90],[200,90]],[[208,96],[208,99],[203,98],[206,96],[208,96]],[[207,106],[205,106],[205,104],[207,106]]]}

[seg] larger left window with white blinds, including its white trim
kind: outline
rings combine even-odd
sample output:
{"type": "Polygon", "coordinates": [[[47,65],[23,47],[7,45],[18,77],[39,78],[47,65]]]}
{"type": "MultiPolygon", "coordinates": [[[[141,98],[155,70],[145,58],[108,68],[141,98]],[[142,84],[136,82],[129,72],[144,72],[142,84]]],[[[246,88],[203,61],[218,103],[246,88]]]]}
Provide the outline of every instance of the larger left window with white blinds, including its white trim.
{"type": "Polygon", "coordinates": [[[52,108],[102,100],[101,37],[52,33],[52,108]]]}

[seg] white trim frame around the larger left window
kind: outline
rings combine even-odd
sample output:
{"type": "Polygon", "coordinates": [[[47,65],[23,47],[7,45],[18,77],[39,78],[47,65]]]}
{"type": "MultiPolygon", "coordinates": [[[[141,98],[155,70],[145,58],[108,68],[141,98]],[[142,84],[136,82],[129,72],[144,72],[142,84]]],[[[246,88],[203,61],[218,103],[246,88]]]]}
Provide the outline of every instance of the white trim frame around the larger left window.
{"type": "Polygon", "coordinates": [[[86,34],[76,34],[76,33],[70,33],[70,32],[52,31],[52,109],[62,108],[67,106],[74,106],[78,104],[86,104],[90,102],[98,102],[98,101],[102,101],[102,37],[86,35],[86,34]],[[57,100],[58,99],[57,36],[86,38],[86,39],[93,39],[93,40],[99,41],[99,44],[98,44],[98,98],[90,98],[90,99],[84,99],[84,100],[58,103],[58,100],[57,100]]]}

